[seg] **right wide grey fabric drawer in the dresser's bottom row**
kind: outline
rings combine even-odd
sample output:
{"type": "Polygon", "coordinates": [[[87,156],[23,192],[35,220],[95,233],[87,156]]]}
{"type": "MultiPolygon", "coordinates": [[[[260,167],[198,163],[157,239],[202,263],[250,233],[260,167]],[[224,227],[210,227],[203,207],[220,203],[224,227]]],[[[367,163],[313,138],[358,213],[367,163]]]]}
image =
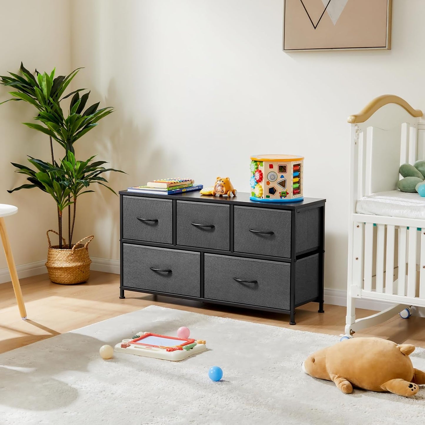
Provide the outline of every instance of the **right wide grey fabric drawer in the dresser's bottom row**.
{"type": "Polygon", "coordinates": [[[289,310],[291,265],[205,254],[204,297],[289,310]]]}

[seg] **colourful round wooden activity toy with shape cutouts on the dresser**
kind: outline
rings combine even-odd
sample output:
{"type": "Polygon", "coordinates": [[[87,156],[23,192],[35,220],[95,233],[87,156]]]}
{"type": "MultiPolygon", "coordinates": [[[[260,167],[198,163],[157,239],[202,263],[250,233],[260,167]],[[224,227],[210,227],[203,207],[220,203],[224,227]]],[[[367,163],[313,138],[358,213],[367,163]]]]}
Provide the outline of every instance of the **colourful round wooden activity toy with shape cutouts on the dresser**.
{"type": "Polygon", "coordinates": [[[294,202],[303,200],[303,156],[251,156],[252,201],[294,202]]]}

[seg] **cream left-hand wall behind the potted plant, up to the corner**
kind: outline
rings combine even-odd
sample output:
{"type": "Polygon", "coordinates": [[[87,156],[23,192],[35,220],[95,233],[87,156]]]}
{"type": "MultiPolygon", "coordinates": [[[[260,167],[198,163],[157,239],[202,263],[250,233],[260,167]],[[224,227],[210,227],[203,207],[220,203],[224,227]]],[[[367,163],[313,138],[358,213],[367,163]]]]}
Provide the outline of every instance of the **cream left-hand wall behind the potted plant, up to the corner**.
{"type": "MultiPolygon", "coordinates": [[[[0,0],[0,10],[0,75],[8,75],[8,71],[18,73],[21,61],[30,71],[36,67],[39,71],[51,71],[55,66],[62,75],[70,71],[68,0],[0,0]]],[[[0,102],[11,97],[8,91],[11,90],[0,86],[0,102]]],[[[35,108],[24,102],[0,105],[0,204],[13,204],[19,208],[18,214],[6,218],[17,264],[45,259],[45,233],[57,228],[56,206],[49,195],[37,189],[6,192],[25,183],[24,176],[14,173],[11,161],[26,164],[27,155],[50,158],[48,136],[21,124],[32,121],[35,115],[35,108]]],[[[0,253],[0,269],[5,267],[6,260],[0,253]]]]}

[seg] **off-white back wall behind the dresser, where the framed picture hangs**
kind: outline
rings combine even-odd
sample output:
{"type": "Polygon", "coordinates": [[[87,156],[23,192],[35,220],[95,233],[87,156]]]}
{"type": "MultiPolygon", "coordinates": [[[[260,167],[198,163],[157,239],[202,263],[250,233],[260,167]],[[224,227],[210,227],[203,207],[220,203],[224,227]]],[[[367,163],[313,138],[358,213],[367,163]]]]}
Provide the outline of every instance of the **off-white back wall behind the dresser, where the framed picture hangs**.
{"type": "MultiPolygon", "coordinates": [[[[116,108],[77,142],[77,155],[98,153],[127,171],[111,176],[116,190],[152,177],[190,175],[209,185],[224,175],[239,191],[249,190],[250,155],[304,155],[305,195],[327,199],[325,286],[345,289],[346,117],[385,93],[425,109],[425,2],[393,1],[391,51],[292,54],[281,48],[283,0],[74,0],[71,8],[71,65],[85,66],[76,85],[91,88],[93,102],[116,108]]],[[[61,24],[59,34],[67,29],[61,24]]],[[[57,53],[40,60],[48,68],[57,53]]],[[[24,55],[13,54],[12,65],[24,55]]],[[[40,53],[28,48],[25,57],[40,53]]],[[[24,129],[12,128],[9,137],[23,143],[24,129]]],[[[5,176],[10,187],[13,173],[5,176]]],[[[29,204],[23,195],[15,203],[29,204]]],[[[118,198],[103,188],[92,195],[81,198],[76,237],[94,233],[91,255],[117,259],[118,198]]],[[[21,262],[41,255],[38,245],[25,249],[21,262]]]]}

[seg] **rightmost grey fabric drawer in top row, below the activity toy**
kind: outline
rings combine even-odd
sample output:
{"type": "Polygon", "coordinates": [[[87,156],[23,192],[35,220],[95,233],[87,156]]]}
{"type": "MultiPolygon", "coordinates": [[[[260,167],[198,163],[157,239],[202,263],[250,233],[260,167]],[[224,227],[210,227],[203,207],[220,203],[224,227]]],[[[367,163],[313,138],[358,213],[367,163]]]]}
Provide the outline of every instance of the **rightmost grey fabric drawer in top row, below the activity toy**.
{"type": "Polygon", "coordinates": [[[291,212],[235,206],[235,252],[291,257],[291,212]]]}

